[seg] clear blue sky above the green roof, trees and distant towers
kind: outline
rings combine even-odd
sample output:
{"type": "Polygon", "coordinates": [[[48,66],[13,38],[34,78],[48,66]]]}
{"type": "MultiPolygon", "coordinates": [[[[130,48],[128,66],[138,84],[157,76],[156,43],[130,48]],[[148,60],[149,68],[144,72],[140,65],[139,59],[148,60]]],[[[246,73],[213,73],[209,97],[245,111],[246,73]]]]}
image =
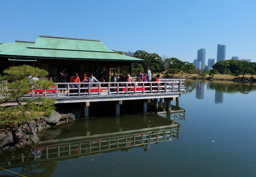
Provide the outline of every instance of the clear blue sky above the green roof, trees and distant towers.
{"type": "Polygon", "coordinates": [[[192,62],[217,57],[256,62],[255,0],[2,1],[0,43],[40,35],[101,39],[111,50],[145,50],[192,62]]]}

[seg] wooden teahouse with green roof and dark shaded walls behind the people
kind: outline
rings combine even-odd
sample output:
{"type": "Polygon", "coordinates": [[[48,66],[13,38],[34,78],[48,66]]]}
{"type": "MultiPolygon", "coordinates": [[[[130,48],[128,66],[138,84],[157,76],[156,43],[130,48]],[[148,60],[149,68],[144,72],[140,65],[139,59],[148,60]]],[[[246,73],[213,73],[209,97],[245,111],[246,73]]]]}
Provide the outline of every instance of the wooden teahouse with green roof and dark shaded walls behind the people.
{"type": "Polygon", "coordinates": [[[0,73],[9,66],[31,65],[48,71],[48,79],[58,82],[59,72],[101,73],[106,68],[110,75],[131,73],[132,63],[143,62],[109,50],[98,39],[82,39],[39,35],[35,42],[15,41],[0,45],[0,73]]]}

